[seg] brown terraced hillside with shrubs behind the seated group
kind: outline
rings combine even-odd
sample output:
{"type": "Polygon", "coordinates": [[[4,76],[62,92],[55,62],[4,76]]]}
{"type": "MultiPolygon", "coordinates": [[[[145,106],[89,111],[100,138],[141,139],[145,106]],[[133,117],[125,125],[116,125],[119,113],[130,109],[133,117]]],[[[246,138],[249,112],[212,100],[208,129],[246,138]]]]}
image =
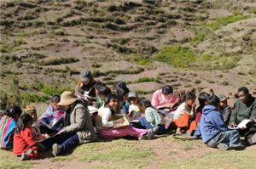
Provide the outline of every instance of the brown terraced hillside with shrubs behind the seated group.
{"type": "Polygon", "coordinates": [[[2,109],[47,103],[84,68],[146,97],[164,84],[256,92],[253,0],[11,0],[0,12],[2,109]]]}

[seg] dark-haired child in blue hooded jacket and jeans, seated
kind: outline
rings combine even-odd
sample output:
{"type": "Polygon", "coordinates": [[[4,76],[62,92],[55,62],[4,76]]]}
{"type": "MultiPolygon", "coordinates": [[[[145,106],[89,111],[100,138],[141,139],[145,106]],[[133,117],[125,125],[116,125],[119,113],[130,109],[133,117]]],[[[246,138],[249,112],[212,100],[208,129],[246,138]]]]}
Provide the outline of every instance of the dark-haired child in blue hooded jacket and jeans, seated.
{"type": "Polygon", "coordinates": [[[207,99],[207,105],[202,110],[201,121],[193,138],[199,138],[201,135],[203,143],[212,148],[218,147],[222,150],[244,149],[239,132],[228,130],[223,116],[218,110],[219,99],[212,95],[207,99]]]}

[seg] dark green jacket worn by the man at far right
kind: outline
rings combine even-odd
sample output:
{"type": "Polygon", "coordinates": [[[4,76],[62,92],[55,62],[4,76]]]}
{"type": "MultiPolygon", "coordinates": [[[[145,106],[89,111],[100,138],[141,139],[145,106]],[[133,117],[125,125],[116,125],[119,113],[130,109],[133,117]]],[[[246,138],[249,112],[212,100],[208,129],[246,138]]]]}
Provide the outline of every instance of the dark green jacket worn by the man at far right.
{"type": "Polygon", "coordinates": [[[244,119],[250,119],[253,122],[254,116],[256,116],[256,99],[252,95],[249,95],[246,104],[242,103],[240,99],[236,99],[230,122],[235,121],[236,124],[239,124],[244,119]]]}

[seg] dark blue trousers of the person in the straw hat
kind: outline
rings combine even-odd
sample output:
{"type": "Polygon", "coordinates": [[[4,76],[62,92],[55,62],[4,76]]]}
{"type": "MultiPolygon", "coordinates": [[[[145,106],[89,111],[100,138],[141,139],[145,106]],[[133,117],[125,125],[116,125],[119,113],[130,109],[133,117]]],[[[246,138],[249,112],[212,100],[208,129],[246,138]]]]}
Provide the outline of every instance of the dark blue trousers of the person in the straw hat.
{"type": "Polygon", "coordinates": [[[53,138],[44,140],[41,144],[43,144],[46,149],[50,149],[53,144],[59,144],[61,146],[61,153],[65,153],[79,145],[79,136],[75,132],[62,132],[61,134],[55,135],[53,138]]]}

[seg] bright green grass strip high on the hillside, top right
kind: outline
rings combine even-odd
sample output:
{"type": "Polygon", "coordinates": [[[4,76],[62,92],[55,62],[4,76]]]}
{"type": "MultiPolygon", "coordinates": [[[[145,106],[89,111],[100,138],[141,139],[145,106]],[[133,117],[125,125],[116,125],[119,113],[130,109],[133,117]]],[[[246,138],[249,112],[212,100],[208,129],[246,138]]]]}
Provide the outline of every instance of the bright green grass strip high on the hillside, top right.
{"type": "Polygon", "coordinates": [[[235,13],[229,16],[225,16],[222,18],[218,18],[217,20],[207,24],[208,27],[212,28],[212,30],[218,30],[220,27],[224,26],[224,25],[228,25],[230,23],[239,21],[239,20],[245,20],[247,18],[250,18],[251,16],[249,15],[243,15],[243,14],[239,14],[239,13],[235,13]]]}

